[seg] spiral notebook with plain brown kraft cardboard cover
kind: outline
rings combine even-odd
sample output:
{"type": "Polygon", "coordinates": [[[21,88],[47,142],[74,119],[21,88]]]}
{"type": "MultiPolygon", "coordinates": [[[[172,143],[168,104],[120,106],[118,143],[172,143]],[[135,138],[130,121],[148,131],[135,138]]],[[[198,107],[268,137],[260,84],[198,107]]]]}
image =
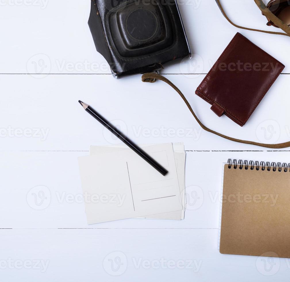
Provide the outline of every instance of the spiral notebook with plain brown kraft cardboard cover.
{"type": "Polygon", "coordinates": [[[222,254],[290,257],[290,164],[228,161],[222,179],[222,254]]]}

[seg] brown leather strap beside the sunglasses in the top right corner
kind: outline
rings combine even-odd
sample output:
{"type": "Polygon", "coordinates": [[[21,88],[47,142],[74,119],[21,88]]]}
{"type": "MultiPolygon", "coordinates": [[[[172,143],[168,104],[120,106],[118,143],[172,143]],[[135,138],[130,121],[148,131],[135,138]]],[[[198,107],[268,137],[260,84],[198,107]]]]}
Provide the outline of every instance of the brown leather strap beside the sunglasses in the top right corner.
{"type": "Polygon", "coordinates": [[[281,21],[279,18],[277,18],[263,3],[262,0],[254,0],[259,9],[262,11],[263,15],[265,15],[269,20],[271,20],[276,26],[284,30],[286,33],[283,32],[275,32],[275,31],[268,31],[268,30],[260,30],[260,29],[254,29],[254,28],[247,28],[243,26],[238,26],[237,24],[234,24],[229,17],[226,15],[226,12],[224,11],[222,4],[220,3],[220,0],[215,0],[224,15],[224,17],[235,27],[247,29],[247,30],[253,30],[253,31],[260,31],[264,33],[271,33],[271,34],[280,34],[280,35],[287,35],[290,36],[290,27],[287,24],[284,24],[283,21],[281,21]]]}

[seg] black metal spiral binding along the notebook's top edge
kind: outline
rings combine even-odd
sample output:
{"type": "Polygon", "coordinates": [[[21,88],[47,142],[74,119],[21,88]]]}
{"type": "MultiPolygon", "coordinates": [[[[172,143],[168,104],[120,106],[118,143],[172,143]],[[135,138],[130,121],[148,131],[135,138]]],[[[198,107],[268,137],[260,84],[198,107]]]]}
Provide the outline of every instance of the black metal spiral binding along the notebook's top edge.
{"type": "Polygon", "coordinates": [[[287,164],[287,163],[283,163],[281,164],[280,162],[278,162],[277,164],[275,162],[272,162],[271,165],[269,163],[269,161],[265,162],[264,161],[261,161],[260,163],[258,161],[242,161],[242,160],[239,160],[237,161],[236,159],[233,159],[233,161],[231,159],[228,159],[228,168],[231,169],[233,167],[233,169],[245,169],[245,170],[248,170],[250,168],[250,170],[253,170],[255,167],[256,167],[256,170],[266,170],[266,167],[267,167],[267,171],[271,171],[271,168],[273,168],[272,170],[273,171],[276,171],[278,170],[278,172],[290,172],[290,163],[287,164]]]}

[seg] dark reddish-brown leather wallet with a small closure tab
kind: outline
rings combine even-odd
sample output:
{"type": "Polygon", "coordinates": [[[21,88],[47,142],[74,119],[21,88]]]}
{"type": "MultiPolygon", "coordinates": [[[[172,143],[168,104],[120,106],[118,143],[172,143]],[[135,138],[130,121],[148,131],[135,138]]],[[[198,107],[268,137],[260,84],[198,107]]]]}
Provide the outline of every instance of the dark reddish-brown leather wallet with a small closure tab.
{"type": "Polygon", "coordinates": [[[243,126],[284,67],[237,33],[195,94],[210,103],[215,114],[243,126]]]}

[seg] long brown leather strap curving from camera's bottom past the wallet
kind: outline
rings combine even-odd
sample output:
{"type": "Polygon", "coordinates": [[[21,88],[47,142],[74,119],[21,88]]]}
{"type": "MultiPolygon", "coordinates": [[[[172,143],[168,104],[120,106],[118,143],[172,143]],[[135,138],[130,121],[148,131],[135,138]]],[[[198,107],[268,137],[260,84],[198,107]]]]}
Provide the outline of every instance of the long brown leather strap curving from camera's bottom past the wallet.
{"type": "Polygon", "coordinates": [[[181,96],[181,98],[184,100],[186,106],[189,108],[191,114],[194,116],[194,118],[196,119],[196,121],[198,122],[198,124],[202,127],[202,129],[206,130],[207,132],[211,132],[215,135],[218,135],[222,138],[231,140],[231,141],[235,141],[238,143],[244,143],[244,144],[251,144],[251,145],[256,145],[256,146],[260,146],[260,147],[265,147],[265,148],[272,148],[272,149],[282,149],[282,148],[288,148],[290,147],[290,141],[289,142],[285,142],[285,143],[280,143],[280,144],[264,144],[264,143],[258,143],[258,142],[253,142],[253,141],[246,141],[246,140],[240,140],[240,139],[236,139],[233,137],[229,137],[226,136],[224,134],[221,134],[219,132],[216,132],[214,130],[209,129],[208,127],[206,127],[200,120],[199,118],[196,116],[195,112],[193,111],[191,105],[189,104],[189,102],[186,100],[186,98],[184,97],[184,95],[182,94],[182,92],[167,78],[165,78],[164,76],[161,76],[160,74],[156,74],[156,73],[145,73],[142,76],[142,81],[143,82],[156,82],[157,80],[162,80],[164,82],[166,82],[167,84],[169,84],[175,91],[177,91],[177,93],[181,96]]]}

